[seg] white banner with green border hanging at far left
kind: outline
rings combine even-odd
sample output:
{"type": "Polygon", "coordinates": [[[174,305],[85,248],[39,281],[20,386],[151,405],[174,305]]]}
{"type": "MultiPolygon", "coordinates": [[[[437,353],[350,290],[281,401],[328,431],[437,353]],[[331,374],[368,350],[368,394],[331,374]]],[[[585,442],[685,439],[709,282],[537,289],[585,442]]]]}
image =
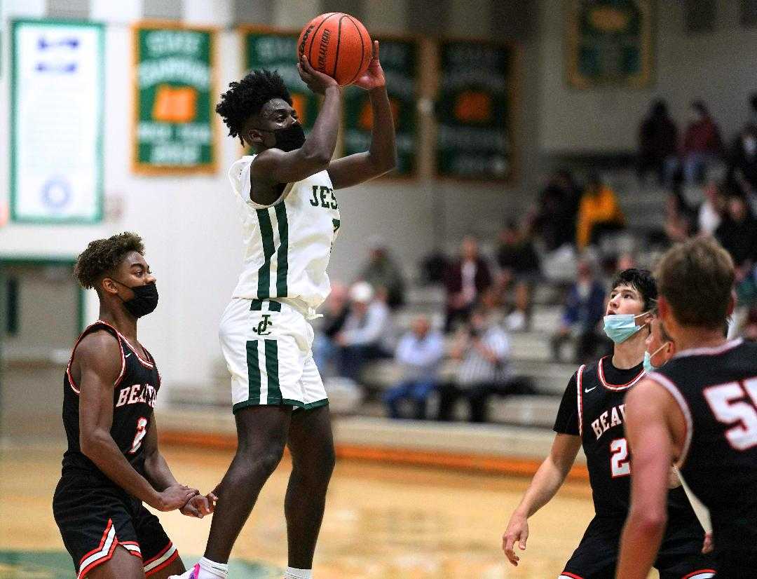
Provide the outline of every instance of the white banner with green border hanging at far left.
{"type": "Polygon", "coordinates": [[[11,219],[96,223],[103,204],[104,31],[11,23],[11,219]]]}

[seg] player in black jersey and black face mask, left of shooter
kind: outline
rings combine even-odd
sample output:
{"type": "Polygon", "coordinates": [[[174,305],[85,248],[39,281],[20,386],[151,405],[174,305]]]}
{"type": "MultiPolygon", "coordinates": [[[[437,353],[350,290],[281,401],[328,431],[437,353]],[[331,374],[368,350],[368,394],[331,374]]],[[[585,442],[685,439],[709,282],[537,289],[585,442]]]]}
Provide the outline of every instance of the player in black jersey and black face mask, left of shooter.
{"type": "Polygon", "coordinates": [[[181,573],[176,546],[142,503],[200,518],[213,510],[213,494],[176,482],[157,448],[160,373],[137,341],[137,321],[157,307],[144,253],[139,235],[126,232],[92,241],[74,269],[100,300],[64,376],[68,449],[52,503],[77,579],[181,573]]]}

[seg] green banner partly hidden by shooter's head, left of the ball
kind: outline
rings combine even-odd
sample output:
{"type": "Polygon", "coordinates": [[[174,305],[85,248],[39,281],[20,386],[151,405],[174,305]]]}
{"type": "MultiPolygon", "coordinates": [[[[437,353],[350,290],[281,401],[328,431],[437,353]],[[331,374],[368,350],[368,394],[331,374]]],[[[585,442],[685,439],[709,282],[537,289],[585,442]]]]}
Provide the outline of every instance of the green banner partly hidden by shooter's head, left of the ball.
{"type": "Polygon", "coordinates": [[[307,88],[297,71],[298,33],[282,33],[243,28],[245,40],[245,71],[278,70],[289,89],[292,106],[307,131],[318,116],[318,97],[307,88]]]}

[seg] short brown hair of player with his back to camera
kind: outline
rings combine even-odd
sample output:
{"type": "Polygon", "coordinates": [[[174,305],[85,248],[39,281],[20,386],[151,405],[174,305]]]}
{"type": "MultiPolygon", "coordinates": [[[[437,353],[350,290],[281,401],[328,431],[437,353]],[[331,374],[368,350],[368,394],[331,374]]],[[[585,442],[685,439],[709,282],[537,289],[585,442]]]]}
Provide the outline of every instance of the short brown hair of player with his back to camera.
{"type": "Polygon", "coordinates": [[[662,297],[681,325],[722,328],[734,288],[734,260],[712,238],[674,245],[657,266],[662,297]]]}

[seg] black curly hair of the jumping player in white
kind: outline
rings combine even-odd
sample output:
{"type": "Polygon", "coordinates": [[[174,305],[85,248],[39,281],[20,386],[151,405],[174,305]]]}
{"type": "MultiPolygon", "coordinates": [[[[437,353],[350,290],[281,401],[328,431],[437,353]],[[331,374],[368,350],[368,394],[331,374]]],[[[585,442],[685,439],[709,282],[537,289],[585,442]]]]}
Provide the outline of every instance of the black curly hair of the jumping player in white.
{"type": "Polygon", "coordinates": [[[229,127],[230,137],[239,137],[242,145],[242,131],[247,120],[260,113],[263,104],[272,98],[281,98],[291,105],[291,96],[284,79],[276,70],[252,70],[239,82],[229,83],[229,90],[221,95],[216,112],[229,127]]]}

